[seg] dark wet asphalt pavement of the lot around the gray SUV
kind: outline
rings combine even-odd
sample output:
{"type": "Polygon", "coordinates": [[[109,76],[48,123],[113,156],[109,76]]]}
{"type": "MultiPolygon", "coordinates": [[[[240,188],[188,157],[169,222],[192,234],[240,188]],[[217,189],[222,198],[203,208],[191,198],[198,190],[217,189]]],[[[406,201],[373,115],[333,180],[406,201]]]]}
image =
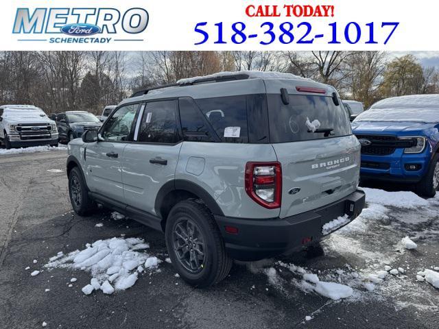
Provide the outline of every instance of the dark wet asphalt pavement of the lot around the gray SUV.
{"type": "Polygon", "coordinates": [[[90,273],[45,269],[51,256],[121,234],[145,239],[147,252],[161,260],[167,253],[163,234],[135,221],[115,221],[106,210],[75,215],[66,158],[65,151],[0,156],[0,328],[42,328],[43,321],[46,328],[438,328],[439,289],[416,281],[420,269],[439,266],[438,206],[392,208],[385,217],[333,234],[322,243],[323,256],[300,252],[235,263],[209,289],[190,287],[163,262],[126,291],[84,295],[90,273]],[[416,238],[415,251],[398,247],[407,234],[416,238]],[[386,278],[372,292],[355,288],[352,297],[337,301],[307,291],[287,268],[299,265],[321,280],[346,283],[346,273],[382,269],[384,263],[403,266],[405,275],[386,278]],[[276,269],[272,280],[269,267],[276,269]],[[34,269],[42,272],[32,277],[34,269]],[[73,277],[78,280],[68,287],[73,277]]]}

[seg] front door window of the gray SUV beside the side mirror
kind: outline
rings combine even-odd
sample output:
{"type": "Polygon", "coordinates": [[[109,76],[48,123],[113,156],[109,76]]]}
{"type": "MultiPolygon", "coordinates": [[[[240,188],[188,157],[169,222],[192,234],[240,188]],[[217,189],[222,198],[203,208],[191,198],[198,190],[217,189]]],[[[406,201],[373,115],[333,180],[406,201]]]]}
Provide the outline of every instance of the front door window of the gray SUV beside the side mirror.
{"type": "Polygon", "coordinates": [[[128,141],[132,129],[132,121],[139,104],[130,104],[119,108],[109,119],[101,132],[105,141],[128,141]]]}

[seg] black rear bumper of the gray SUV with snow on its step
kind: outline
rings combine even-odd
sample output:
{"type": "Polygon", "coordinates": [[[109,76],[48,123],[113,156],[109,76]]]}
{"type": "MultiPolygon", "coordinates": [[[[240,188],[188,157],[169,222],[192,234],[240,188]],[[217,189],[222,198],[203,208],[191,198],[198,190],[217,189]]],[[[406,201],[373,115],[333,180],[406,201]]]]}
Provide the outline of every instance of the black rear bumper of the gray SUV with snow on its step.
{"type": "Polygon", "coordinates": [[[364,202],[364,192],[357,190],[322,208],[283,219],[239,219],[218,215],[215,215],[215,219],[231,258],[245,261],[260,260],[288,254],[300,247],[320,241],[328,235],[322,234],[325,223],[344,214],[348,214],[352,221],[363,210],[364,202]],[[226,226],[237,228],[238,233],[227,233],[226,226]]]}

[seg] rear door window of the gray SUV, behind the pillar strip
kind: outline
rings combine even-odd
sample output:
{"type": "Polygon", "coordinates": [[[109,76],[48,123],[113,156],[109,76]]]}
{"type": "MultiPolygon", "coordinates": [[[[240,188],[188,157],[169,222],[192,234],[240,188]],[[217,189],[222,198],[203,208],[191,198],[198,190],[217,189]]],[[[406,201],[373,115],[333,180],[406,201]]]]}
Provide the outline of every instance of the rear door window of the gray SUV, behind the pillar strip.
{"type": "Polygon", "coordinates": [[[169,143],[179,141],[177,101],[152,101],[146,104],[139,129],[139,142],[169,143]]]}

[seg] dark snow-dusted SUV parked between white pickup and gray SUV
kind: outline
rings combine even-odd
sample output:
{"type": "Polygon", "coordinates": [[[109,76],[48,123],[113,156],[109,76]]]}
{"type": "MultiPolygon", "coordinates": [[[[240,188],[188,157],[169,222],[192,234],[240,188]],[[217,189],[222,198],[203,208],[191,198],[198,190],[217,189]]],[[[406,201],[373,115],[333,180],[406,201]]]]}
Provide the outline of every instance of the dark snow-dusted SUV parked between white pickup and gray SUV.
{"type": "Polygon", "coordinates": [[[69,142],[75,138],[80,138],[86,130],[99,130],[102,126],[101,121],[94,114],[86,111],[68,111],[58,113],[56,125],[60,141],[69,142]]]}

